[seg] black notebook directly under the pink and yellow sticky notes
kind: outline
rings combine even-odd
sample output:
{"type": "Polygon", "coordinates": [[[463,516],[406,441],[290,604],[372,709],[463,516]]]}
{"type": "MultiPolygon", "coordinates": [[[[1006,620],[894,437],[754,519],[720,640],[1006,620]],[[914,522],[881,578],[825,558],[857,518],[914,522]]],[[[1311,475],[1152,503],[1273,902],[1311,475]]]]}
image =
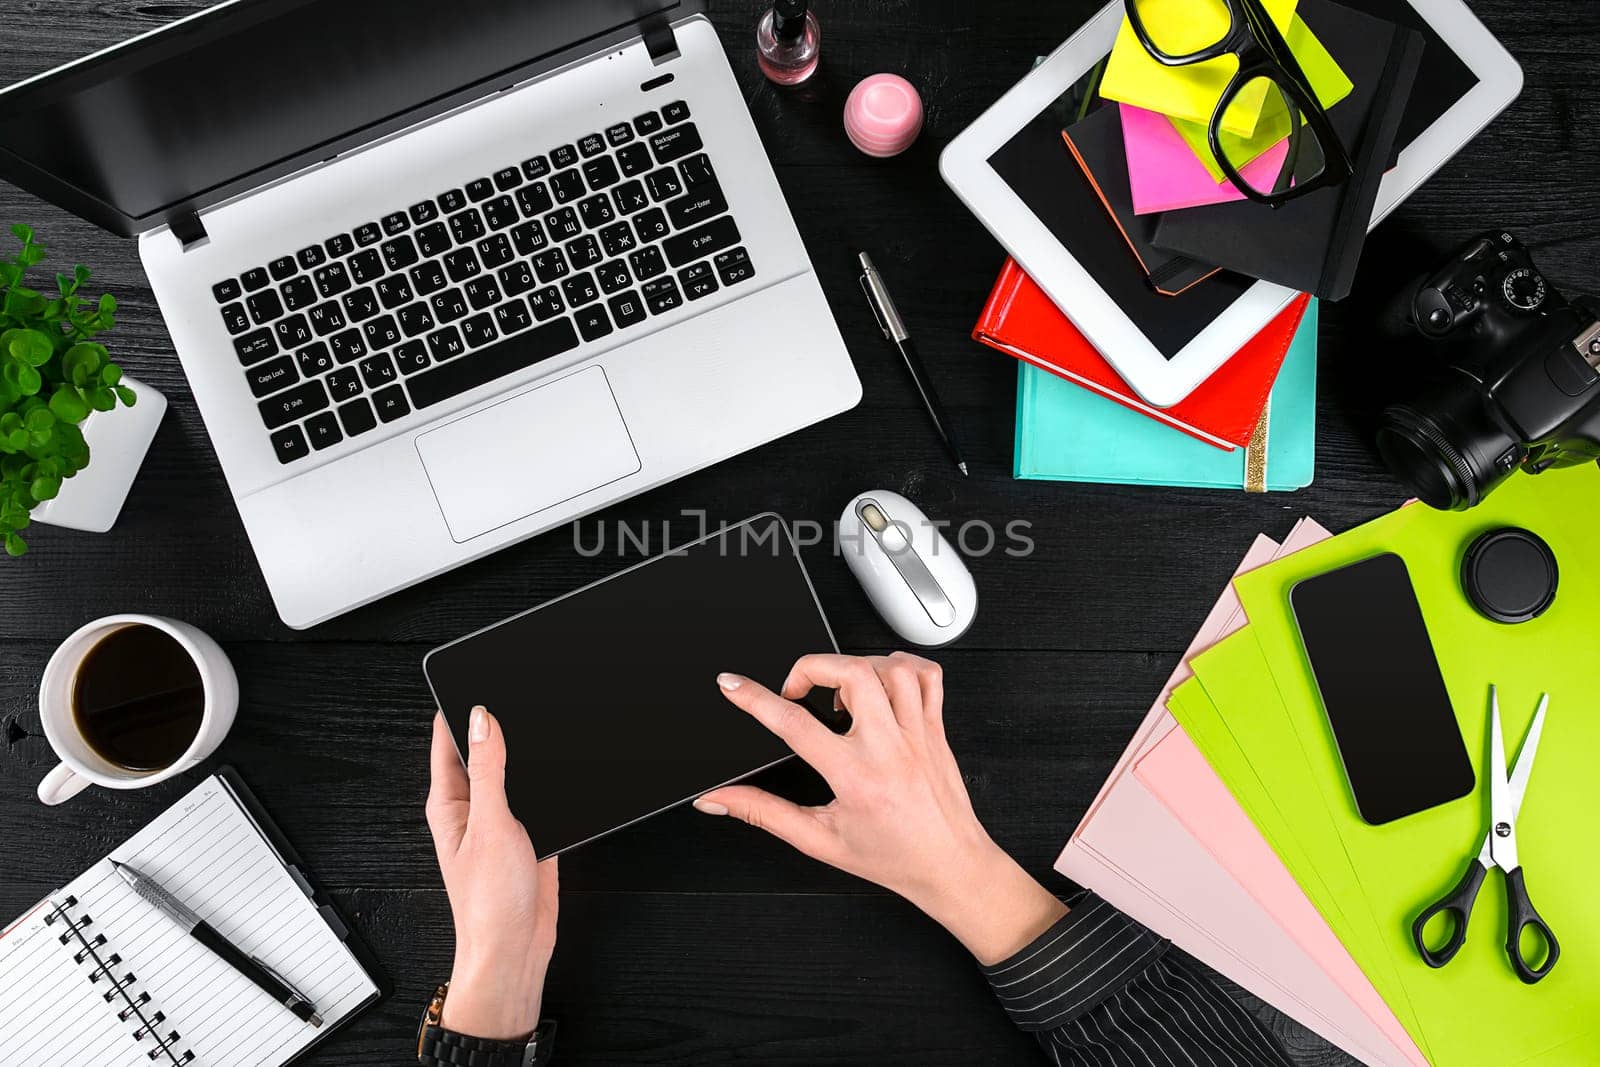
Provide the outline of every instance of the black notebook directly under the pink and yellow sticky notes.
{"type": "Polygon", "coordinates": [[[1355,85],[1350,96],[1328,109],[1355,174],[1342,186],[1320,189],[1277,210],[1243,202],[1168,211],[1154,243],[1339,301],[1355,285],[1378,187],[1394,158],[1422,62],[1424,38],[1331,0],[1302,0],[1298,13],[1355,85]]]}

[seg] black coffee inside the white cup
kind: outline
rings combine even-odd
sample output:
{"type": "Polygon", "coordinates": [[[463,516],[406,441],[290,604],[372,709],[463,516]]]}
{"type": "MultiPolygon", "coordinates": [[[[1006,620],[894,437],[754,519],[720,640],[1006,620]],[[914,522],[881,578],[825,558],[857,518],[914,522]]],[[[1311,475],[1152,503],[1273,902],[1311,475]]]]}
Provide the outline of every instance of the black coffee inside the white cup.
{"type": "Polygon", "coordinates": [[[125,625],[102,637],[78,665],[72,717],[107,763],[126,771],[162,771],[200,733],[200,669],[165,630],[125,625]]]}

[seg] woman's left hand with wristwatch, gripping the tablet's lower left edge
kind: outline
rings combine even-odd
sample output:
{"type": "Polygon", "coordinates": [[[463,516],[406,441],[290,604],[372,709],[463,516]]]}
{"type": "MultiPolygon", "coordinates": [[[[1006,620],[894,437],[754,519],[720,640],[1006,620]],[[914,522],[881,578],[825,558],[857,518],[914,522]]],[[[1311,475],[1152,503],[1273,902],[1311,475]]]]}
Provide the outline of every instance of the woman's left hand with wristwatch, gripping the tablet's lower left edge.
{"type": "Polygon", "coordinates": [[[515,1041],[539,1025],[560,878],[555,859],[541,864],[533,854],[506,805],[499,721],[475,707],[467,733],[462,769],[445,717],[434,718],[427,825],[456,917],[456,966],[442,1022],[456,1033],[515,1041]]]}

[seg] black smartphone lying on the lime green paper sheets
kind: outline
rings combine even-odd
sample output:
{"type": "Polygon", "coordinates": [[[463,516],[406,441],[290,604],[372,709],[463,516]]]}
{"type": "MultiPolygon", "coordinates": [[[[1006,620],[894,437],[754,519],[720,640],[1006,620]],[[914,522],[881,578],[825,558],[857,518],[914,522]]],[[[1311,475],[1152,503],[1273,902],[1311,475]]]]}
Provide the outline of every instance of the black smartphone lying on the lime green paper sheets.
{"type": "Polygon", "coordinates": [[[1472,760],[1405,560],[1307,577],[1290,603],[1362,817],[1382,825],[1470,793],[1472,760]]]}

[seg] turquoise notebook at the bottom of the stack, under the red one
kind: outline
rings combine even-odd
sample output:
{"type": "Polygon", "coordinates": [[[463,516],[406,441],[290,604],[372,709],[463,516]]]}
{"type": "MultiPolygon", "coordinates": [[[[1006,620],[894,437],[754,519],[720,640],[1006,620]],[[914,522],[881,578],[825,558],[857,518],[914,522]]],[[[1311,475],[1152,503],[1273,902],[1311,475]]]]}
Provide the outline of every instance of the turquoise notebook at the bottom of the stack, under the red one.
{"type": "MultiPolygon", "coordinates": [[[[1162,426],[1138,411],[1019,363],[1016,397],[1018,478],[1245,488],[1245,450],[1230,453],[1162,426]]],[[[1267,419],[1267,490],[1290,493],[1312,482],[1317,461],[1317,301],[1306,309],[1267,419]]]]}

